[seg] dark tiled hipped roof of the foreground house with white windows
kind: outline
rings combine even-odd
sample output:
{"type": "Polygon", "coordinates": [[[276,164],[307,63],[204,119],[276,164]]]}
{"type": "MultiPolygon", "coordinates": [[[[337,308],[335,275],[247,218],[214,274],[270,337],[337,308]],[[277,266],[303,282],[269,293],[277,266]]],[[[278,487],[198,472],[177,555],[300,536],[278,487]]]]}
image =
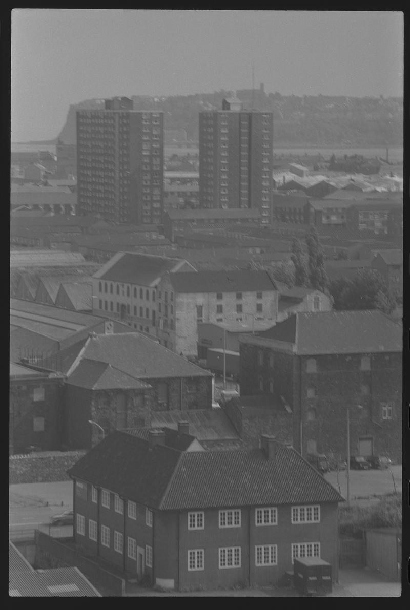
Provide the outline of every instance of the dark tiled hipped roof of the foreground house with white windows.
{"type": "Polygon", "coordinates": [[[261,450],[150,449],[146,440],[113,432],[68,473],[164,511],[343,500],[300,454],[281,446],[269,460],[261,450]]]}

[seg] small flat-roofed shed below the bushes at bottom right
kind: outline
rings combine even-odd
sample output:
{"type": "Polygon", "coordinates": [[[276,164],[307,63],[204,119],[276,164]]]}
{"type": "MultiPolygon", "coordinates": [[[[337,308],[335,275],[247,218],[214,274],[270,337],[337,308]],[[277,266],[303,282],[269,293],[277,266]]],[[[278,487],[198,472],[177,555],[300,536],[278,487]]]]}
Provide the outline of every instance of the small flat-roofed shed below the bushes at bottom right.
{"type": "Polygon", "coordinates": [[[367,529],[366,562],[391,580],[401,580],[401,532],[397,528],[367,529]]]}

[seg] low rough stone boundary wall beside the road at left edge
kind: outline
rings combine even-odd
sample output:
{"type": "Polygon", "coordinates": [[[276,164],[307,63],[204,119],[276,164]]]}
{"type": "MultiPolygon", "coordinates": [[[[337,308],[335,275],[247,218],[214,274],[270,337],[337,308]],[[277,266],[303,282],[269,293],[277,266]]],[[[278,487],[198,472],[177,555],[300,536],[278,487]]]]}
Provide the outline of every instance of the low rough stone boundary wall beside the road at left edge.
{"type": "Polygon", "coordinates": [[[71,468],[85,451],[52,451],[29,455],[10,456],[10,485],[18,483],[51,483],[69,481],[68,468],[71,468]]]}

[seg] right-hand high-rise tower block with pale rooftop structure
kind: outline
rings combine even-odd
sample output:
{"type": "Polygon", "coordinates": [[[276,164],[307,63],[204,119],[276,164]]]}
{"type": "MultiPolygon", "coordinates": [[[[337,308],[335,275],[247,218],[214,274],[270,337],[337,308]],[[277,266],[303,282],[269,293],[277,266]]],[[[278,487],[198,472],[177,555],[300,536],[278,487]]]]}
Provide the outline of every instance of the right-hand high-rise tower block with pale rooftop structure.
{"type": "Polygon", "coordinates": [[[236,98],[200,112],[200,206],[256,208],[267,224],[272,146],[272,112],[245,111],[236,98]]]}

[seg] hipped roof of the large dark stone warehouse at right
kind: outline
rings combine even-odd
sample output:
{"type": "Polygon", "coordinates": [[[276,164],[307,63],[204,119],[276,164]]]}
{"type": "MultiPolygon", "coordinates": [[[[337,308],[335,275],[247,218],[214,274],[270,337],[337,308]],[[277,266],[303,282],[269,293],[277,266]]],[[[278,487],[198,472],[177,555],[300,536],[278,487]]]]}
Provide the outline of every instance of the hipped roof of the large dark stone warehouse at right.
{"type": "Polygon", "coordinates": [[[297,312],[260,337],[293,343],[298,355],[400,352],[403,332],[375,310],[297,312]]]}

